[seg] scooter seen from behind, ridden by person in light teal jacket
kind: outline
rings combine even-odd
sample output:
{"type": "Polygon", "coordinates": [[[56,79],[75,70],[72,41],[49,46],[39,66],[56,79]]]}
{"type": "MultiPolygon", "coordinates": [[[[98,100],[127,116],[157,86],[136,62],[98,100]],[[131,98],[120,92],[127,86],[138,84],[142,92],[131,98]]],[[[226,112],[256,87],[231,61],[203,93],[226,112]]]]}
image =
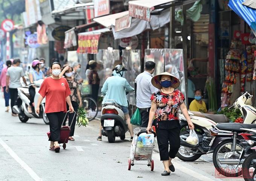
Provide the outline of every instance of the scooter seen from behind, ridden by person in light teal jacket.
{"type": "Polygon", "coordinates": [[[116,137],[125,139],[125,133],[128,131],[128,125],[125,121],[125,115],[121,106],[114,100],[106,100],[102,107],[101,116],[102,135],[108,137],[109,143],[114,143],[116,137]]]}

